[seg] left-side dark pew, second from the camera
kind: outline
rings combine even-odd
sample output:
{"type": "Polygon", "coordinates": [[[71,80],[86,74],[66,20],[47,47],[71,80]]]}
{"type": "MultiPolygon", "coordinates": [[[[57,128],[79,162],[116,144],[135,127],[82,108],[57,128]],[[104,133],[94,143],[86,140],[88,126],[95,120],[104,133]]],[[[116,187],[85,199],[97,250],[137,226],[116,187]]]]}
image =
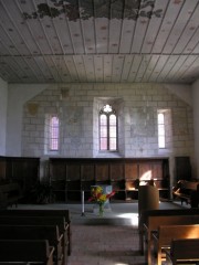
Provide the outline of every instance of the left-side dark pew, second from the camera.
{"type": "MultiPolygon", "coordinates": [[[[63,262],[63,235],[60,235],[56,225],[0,225],[0,240],[48,240],[54,247],[54,262],[63,262]]],[[[25,252],[25,248],[24,248],[25,252]]]]}

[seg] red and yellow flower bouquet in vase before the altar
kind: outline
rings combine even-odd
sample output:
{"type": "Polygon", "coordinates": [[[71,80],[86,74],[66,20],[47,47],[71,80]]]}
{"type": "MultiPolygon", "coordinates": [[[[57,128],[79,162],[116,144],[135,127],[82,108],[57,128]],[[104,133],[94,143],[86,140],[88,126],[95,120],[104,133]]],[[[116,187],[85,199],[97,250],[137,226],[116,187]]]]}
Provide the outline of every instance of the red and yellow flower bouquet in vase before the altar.
{"type": "Polygon", "coordinates": [[[103,188],[101,186],[93,187],[91,190],[91,198],[88,199],[90,202],[95,202],[98,204],[100,215],[103,216],[104,213],[104,204],[105,202],[115,194],[115,191],[112,191],[108,194],[103,192],[103,188]]]}

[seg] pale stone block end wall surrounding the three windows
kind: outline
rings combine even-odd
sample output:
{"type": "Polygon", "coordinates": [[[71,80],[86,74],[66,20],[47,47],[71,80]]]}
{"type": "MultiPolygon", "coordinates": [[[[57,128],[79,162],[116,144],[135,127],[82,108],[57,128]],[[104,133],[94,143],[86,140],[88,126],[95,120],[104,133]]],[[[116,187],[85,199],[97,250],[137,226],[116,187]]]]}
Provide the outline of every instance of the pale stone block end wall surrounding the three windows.
{"type": "Polygon", "coordinates": [[[22,156],[60,157],[175,157],[193,155],[191,107],[164,85],[67,84],[51,86],[23,106],[22,156]],[[115,104],[118,114],[119,150],[98,152],[98,112],[115,104]],[[166,148],[158,148],[157,112],[167,118],[166,148]],[[57,153],[48,152],[45,118],[61,119],[57,153]]]}

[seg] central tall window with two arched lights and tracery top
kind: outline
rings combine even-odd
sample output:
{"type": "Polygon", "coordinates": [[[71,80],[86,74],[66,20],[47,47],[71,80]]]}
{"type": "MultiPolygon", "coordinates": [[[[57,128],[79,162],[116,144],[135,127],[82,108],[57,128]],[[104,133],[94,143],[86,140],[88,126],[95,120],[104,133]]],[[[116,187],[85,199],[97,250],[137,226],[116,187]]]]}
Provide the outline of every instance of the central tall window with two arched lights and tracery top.
{"type": "Polygon", "coordinates": [[[109,105],[100,112],[100,150],[117,150],[117,116],[109,105]]]}

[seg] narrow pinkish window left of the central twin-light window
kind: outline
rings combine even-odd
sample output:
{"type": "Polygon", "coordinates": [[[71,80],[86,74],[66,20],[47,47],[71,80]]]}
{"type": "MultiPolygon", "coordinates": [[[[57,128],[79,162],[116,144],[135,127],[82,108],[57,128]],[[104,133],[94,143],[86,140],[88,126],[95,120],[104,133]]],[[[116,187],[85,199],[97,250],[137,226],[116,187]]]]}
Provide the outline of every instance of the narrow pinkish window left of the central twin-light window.
{"type": "Polygon", "coordinates": [[[50,150],[59,150],[60,123],[56,116],[50,119],[50,150]]]}

